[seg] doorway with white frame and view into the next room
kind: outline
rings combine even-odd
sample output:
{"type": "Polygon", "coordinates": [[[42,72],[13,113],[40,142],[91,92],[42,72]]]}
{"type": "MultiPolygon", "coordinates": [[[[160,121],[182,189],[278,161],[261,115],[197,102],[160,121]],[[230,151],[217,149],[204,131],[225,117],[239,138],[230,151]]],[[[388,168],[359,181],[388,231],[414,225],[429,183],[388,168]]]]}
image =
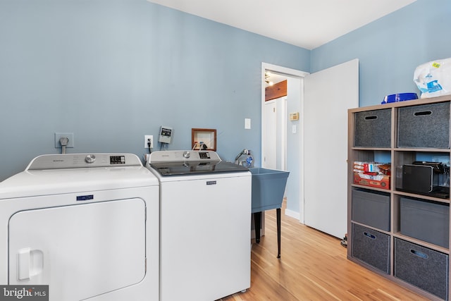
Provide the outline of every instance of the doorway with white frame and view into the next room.
{"type": "Polygon", "coordinates": [[[301,223],[304,222],[303,214],[299,214],[304,183],[301,168],[303,129],[301,121],[289,120],[288,113],[302,112],[304,76],[307,74],[269,63],[261,64],[261,166],[290,171],[284,213],[301,223]],[[288,80],[286,97],[265,102],[266,71],[277,75],[278,81],[288,80]]]}

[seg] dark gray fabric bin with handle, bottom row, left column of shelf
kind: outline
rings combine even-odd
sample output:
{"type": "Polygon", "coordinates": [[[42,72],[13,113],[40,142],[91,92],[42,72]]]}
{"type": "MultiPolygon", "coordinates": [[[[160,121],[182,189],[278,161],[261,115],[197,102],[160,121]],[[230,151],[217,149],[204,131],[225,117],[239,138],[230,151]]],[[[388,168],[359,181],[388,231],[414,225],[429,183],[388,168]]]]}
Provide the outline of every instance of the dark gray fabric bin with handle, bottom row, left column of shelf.
{"type": "Polygon", "coordinates": [[[352,223],[351,256],[390,274],[390,235],[352,223]]]}

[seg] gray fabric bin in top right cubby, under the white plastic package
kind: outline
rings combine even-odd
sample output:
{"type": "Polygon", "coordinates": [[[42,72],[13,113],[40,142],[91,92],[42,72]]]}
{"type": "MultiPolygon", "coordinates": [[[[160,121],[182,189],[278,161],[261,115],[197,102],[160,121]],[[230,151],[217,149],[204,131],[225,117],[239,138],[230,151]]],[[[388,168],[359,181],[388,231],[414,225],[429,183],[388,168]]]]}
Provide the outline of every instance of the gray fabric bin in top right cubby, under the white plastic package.
{"type": "Polygon", "coordinates": [[[397,147],[450,148],[450,103],[405,106],[398,111],[397,147]]]}

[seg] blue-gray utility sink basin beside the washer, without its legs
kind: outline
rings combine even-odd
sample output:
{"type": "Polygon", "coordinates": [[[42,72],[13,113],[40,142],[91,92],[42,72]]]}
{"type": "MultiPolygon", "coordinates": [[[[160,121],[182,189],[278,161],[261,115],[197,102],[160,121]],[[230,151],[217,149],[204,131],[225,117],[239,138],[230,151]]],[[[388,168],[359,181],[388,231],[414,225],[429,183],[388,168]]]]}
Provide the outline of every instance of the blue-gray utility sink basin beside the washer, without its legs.
{"type": "Polygon", "coordinates": [[[282,207],[289,171],[253,167],[252,213],[282,207]]]}

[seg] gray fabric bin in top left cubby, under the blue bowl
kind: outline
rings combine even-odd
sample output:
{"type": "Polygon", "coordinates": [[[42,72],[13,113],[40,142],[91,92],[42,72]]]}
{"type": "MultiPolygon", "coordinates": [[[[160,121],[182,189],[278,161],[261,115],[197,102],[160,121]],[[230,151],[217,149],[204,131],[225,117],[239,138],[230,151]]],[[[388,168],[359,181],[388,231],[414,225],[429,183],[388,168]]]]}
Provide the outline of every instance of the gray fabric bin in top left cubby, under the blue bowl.
{"type": "Polygon", "coordinates": [[[354,147],[390,147],[392,110],[355,113],[354,147]]]}

